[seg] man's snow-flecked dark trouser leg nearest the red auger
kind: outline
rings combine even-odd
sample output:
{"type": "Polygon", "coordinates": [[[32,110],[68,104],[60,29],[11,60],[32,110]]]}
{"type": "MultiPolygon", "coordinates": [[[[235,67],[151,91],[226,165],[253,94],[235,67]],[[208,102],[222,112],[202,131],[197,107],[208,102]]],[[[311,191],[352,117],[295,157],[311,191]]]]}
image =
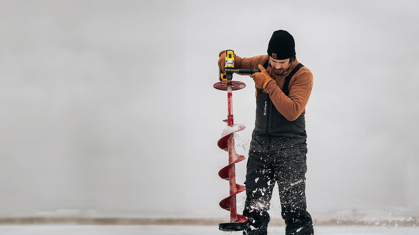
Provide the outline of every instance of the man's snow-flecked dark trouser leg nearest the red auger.
{"type": "Polygon", "coordinates": [[[246,202],[243,215],[248,218],[248,235],[266,235],[270,220],[269,210],[272,190],[275,185],[274,172],[269,169],[267,156],[249,151],[246,173],[246,202]]]}

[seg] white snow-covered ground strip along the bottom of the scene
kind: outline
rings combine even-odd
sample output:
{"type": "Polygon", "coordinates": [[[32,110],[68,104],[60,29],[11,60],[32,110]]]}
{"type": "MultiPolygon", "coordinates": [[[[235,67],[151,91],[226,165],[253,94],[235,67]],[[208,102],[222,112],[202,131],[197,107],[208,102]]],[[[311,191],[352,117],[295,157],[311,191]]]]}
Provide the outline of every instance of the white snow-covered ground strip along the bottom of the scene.
{"type": "MultiPolygon", "coordinates": [[[[284,234],[284,226],[269,228],[269,235],[284,234]]],[[[418,235],[419,227],[316,226],[316,235],[418,235]]],[[[1,225],[1,235],[235,235],[217,226],[191,225],[1,225]]]]}

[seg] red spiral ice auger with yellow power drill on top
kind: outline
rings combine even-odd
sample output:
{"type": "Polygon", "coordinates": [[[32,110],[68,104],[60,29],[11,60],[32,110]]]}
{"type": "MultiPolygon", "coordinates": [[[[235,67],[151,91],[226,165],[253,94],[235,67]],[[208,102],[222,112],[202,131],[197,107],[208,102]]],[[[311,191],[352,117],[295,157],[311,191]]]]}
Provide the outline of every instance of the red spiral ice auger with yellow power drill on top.
{"type": "Polygon", "coordinates": [[[225,74],[222,74],[221,69],[219,71],[220,81],[214,84],[215,89],[222,91],[227,91],[228,98],[228,116],[227,120],[223,120],[227,123],[227,127],[224,129],[220,140],[218,140],[218,147],[222,150],[228,152],[228,166],[222,168],[218,175],[222,179],[226,179],[230,183],[230,196],[222,199],[220,202],[220,207],[222,209],[230,211],[230,223],[221,223],[219,224],[219,229],[222,231],[241,231],[247,230],[249,224],[247,219],[243,215],[237,214],[236,207],[236,194],[246,190],[246,187],[235,182],[235,163],[244,160],[243,155],[239,155],[235,151],[234,144],[234,133],[243,130],[245,126],[243,124],[234,124],[233,122],[233,99],[232,92],[235,90],[240,90],[246,87],[246,84],[238,81],[231,81],[233,78],[234,71],[234,54],[232,50],[225,51],[225,74]],[[233,71],[233,72],[231,72],[233,71]]]}

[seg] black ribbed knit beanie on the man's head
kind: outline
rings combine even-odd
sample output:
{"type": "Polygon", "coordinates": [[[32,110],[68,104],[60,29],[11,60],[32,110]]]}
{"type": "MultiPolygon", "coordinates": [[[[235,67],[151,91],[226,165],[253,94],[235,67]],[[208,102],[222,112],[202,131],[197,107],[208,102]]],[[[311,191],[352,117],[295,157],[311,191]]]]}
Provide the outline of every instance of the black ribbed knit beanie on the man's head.
{"type": "Polygon", "coordinates": [[[295,56],[295,41],[290,33],[277,30],[268,44],[268,55],[273,59],[288,59],[295,56]]]}

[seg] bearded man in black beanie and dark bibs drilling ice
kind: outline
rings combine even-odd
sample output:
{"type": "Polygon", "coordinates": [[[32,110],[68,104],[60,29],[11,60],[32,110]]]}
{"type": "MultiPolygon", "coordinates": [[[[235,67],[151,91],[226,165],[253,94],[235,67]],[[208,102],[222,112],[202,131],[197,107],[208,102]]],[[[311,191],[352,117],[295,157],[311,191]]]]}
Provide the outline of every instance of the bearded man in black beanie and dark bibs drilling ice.
{"type": "MultiPolygon", "coordinates": [[[[285,234],[311,235],[313,222],[305,200],[304,114],[313,74],[297,61],[294,38],[287,31],[272,34],[267,52],[268,55],[250,58],[234,56],[234,69],[261,70],[251,74],[256,85],[256,122],[247,163],[243,211],[250,228],[243,234],[267,234],[270,217],[266,211],[276,182],[285,234]]],[[[222,51],[218,65],[223,71],[224,59],[222,51]]]]}

